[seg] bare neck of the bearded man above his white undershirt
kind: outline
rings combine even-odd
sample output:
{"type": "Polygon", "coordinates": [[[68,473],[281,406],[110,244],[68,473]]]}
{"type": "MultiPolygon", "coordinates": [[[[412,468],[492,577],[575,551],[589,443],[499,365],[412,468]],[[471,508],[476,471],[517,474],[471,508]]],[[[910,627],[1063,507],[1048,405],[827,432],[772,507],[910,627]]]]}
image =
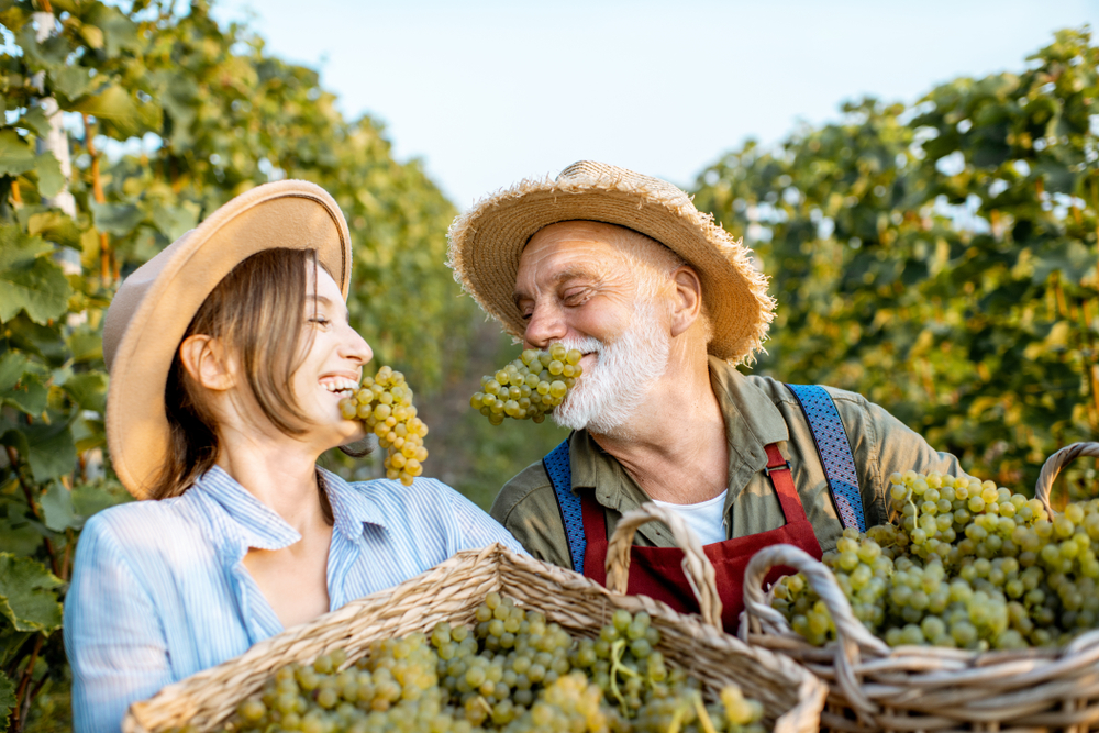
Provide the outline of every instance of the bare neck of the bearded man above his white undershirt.
{"type": "Polygon", "coordinates": [[[591,437],[651,499],[692,504],[728,486],[725,421],[704,352],[674,355],[633,418],[621,430],[591,437]]]}

